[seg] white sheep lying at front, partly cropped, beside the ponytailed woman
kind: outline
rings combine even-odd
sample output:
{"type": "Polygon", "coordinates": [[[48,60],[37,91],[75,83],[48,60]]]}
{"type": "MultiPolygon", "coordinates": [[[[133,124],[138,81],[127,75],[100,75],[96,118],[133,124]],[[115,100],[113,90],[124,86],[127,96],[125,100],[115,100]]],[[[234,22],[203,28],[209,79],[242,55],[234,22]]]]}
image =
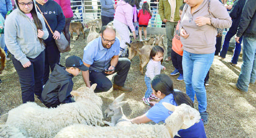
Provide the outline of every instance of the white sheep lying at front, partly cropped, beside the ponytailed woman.
{"type": "Polygon", "coordinates": [[[63,128],[55,138],[64,137],[173,137],[180,129],[187,129],[198,123],[200,114],[196,109],[181,104],[176,107],[163,103],[164,107],[173,113],[166,119],[165,125],[131,124],[116,127],[93,127],[89,125],[74,124],[63,128]]]}

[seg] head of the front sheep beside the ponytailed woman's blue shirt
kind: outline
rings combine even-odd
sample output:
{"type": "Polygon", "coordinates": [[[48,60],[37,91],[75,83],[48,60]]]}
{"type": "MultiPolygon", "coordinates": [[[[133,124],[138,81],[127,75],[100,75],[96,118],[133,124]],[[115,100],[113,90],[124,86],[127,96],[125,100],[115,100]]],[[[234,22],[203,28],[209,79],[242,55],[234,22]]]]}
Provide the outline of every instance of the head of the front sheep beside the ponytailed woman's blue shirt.
{"type": "Polygon", "coordinates": [[[172,104],[163,102],[163,106],[173,112],[165,121],[171,136],[175,136],[180,129],[187,129],[191,127],[201,119],[198,110],[188,106],[187,104],[173,106],[172,104]]]}

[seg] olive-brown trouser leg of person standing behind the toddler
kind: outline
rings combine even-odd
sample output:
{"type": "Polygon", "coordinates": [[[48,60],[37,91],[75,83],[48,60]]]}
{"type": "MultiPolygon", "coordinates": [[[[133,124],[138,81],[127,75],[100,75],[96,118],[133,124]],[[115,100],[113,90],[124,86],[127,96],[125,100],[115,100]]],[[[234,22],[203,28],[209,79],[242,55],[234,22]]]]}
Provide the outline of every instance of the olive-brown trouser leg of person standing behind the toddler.
{"type": "Polygon", "coordinates": [[[167,56],[172,54],[172,38],[178,22],[166,22],[167,56]]]}

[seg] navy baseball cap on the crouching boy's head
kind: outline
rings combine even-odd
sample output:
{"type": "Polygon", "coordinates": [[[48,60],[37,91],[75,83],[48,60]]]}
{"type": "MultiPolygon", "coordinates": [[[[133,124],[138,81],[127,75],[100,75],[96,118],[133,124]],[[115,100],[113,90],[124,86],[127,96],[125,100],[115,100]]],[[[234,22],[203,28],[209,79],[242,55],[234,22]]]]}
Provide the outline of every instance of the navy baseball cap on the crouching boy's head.
{"type": "Polygon", "coordinates": [[[66,59],[66,67],[76,67],[81,71],[89,70],[89,68],[83,64],[82,59],[78,56],[69,56],[69,58],[66,59]]]}

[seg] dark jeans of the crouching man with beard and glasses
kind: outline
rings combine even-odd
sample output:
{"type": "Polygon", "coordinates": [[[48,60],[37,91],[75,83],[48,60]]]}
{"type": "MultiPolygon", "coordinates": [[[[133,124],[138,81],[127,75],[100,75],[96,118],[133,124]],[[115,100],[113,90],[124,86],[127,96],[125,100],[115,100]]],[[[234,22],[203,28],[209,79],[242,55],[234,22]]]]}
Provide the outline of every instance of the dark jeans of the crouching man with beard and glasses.
{"type": "MultiPolygon", "coordinates": [[[[124,86],[128,71],[131,67],[131,61],[128,58],[119,58],[114,73],[114,84],[124,86]]],[[[107,78],[108,74],[104,72],[90,71],[91,84],[97,83],[94,92],[106,92],[112,87],[112,82],[107,78]]]]}

